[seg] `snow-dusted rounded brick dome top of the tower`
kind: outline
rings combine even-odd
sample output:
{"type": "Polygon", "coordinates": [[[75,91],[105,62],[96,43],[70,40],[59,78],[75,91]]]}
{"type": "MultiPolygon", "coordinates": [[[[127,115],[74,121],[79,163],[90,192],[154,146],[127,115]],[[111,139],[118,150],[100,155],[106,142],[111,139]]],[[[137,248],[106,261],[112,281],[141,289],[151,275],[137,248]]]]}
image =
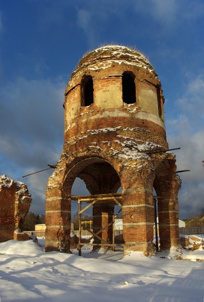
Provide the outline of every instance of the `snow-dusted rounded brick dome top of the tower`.
{"type": "Polygon", "coordinates": [[[120,45],[99,47],[85,54],[80,60],[75,73],[87,67],[89,70],[98,70],[111,67],[112,64],[121,65],[122,63],[143,68],[157,75],[143,54],[135,49],[120,45]]]}

